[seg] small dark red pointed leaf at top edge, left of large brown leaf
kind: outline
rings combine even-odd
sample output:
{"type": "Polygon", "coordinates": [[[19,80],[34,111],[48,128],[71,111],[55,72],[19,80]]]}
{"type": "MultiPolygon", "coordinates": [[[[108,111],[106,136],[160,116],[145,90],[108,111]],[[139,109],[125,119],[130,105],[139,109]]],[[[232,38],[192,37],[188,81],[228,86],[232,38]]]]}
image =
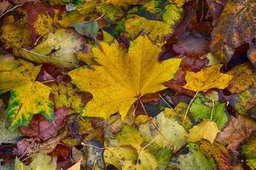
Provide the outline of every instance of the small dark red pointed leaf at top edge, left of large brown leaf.
{"type": "Polygon", "coordinates": [[[207,4],[212,12],[213,24],[218,20],[227,0],[207,0],[207,4]]]}

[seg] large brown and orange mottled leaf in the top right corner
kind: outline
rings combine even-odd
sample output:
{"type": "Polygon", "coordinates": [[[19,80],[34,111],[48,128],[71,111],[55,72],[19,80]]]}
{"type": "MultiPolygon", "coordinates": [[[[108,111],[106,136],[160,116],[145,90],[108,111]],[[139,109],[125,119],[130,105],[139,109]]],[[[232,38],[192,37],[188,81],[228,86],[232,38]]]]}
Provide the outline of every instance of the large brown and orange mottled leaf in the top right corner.
{"type": "MultiPolygon", "coordinates": [[[[219,59],[227,64],[235,48],[242,44],[253,41],[255,18],[255,1],[236,2],[228,1],[224,6],[224,11],[216,22],[212,31],[212,52],[218,54],[219,59]]],[[[253,58],[252,62],[253,61],[253,58]]]]}

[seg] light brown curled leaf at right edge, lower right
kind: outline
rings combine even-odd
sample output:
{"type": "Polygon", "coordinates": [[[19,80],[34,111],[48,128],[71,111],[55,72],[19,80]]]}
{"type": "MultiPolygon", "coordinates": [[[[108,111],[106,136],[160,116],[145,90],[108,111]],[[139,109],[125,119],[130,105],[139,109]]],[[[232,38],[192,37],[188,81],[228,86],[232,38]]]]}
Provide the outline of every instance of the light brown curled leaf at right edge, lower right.
{"type": "Polygon", "coordinates": [[[256,130],[256,122],[245,116],[237,118],[231,116],[230,122],[221,133],[218,133],[217,141],[221,144],[227,144],[227,149],[237,153],[239,145],[244,139],[256,130]]]}

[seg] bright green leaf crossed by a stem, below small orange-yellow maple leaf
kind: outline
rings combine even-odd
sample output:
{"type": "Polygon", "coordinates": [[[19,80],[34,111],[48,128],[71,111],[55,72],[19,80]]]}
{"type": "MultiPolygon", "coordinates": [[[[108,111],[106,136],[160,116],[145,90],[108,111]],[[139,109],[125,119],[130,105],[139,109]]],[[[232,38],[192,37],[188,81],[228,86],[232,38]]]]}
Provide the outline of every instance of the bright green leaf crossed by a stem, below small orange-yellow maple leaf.
{"type": "Polygon", "coordinates": [[[229,120],[225,109],[225,103],[220,103],[218,101],[214,102],[213,111],[212,105],[210,99],[206,99],[203,95],[198,94],[192,103],[189,112],[194,117],[195,122],[201,122],[203,119],[210,119],[212,113],[212,122],[215,122],[218,129],[221,130],[229,120]]]}

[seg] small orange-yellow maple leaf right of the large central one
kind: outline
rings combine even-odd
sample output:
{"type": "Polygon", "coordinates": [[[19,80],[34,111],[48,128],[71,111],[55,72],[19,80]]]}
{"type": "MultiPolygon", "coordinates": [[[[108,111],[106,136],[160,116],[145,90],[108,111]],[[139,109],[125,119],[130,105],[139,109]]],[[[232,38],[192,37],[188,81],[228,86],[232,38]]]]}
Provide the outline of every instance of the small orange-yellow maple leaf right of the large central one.
{"type": "Polygon", "coordinates": [[[224,89],[229,85],[232,76],[219,72],[222,65],[212,65],[198,72],[187,71],[183,88],[195,92],[207,92],[210,88],[224,89]]]}

